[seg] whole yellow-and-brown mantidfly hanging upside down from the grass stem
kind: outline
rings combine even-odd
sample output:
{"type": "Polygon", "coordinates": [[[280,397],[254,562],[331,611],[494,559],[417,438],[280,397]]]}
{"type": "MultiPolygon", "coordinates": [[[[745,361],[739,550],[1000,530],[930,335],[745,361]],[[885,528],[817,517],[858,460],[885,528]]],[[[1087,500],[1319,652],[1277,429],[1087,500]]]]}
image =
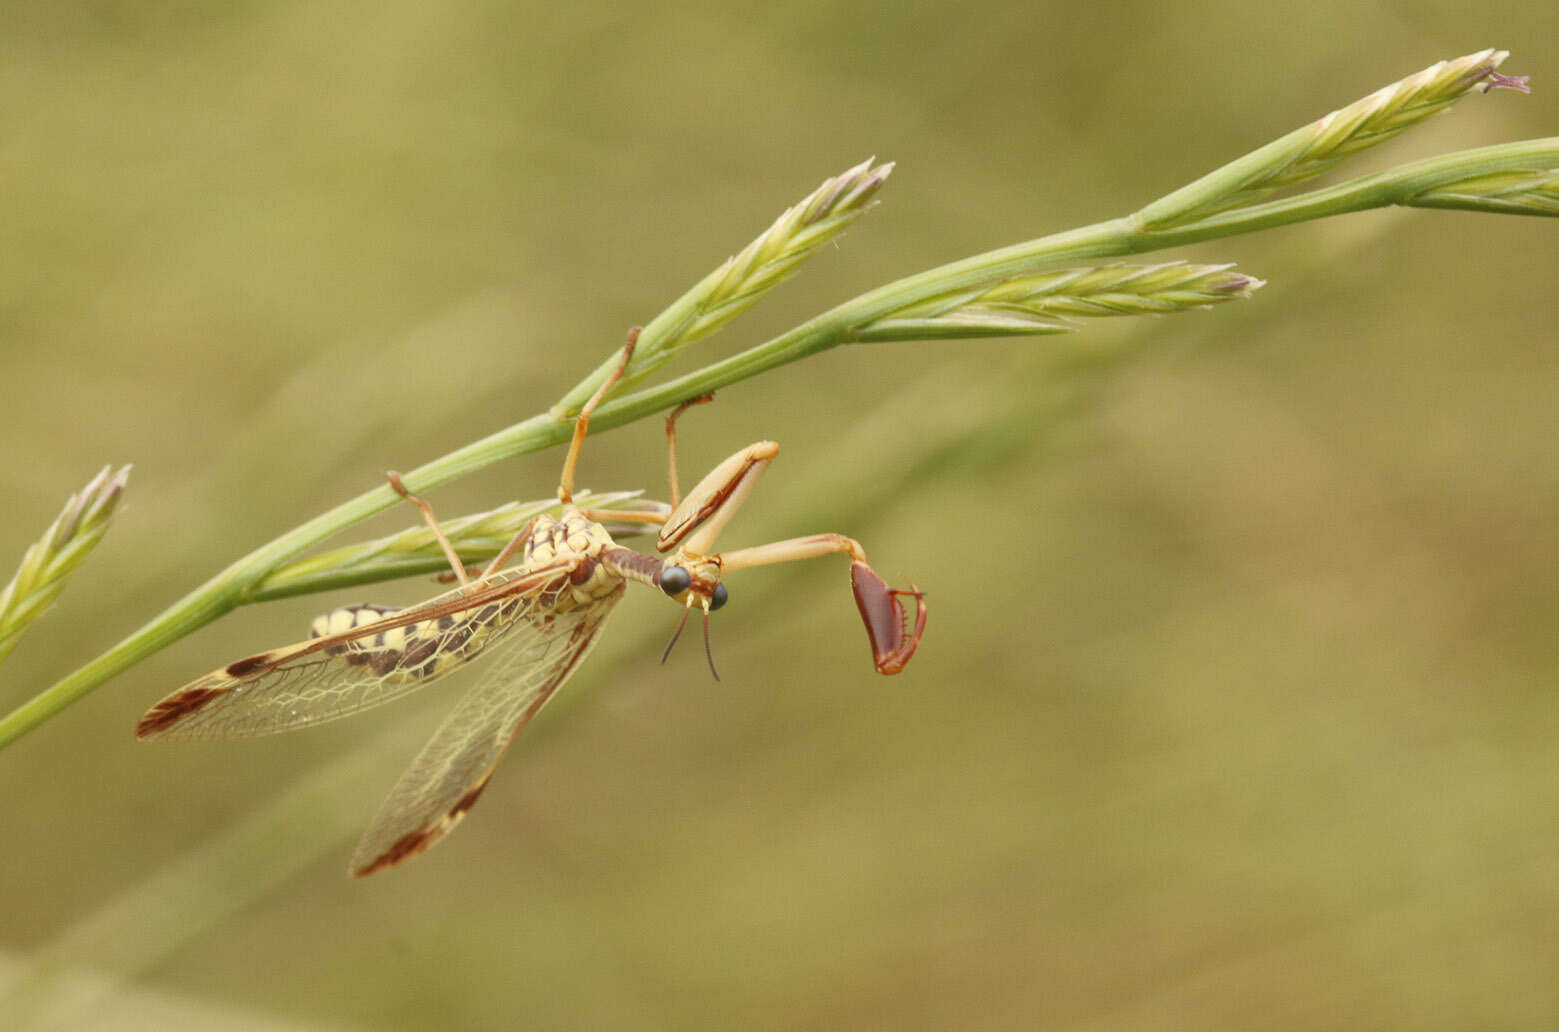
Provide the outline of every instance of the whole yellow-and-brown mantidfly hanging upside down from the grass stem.
{"type": "MultiPolygon", "coordinates": [[[[748,566],[850,555],[850,583],[871,642],[879,673],[898,673],[926,628],[926,600],[914,585],[889,588],[867,566],[861,546],[836,533],[776,541],[734,552],[712,552],[714,539],[747,500],[780,446],[748,444],[678,499],[677,416],[666,419],[670,452],[670,513],[580,510],[574,505],[574,471],[589,432],[589,416],[622,376],[638,329],[628,334],[622,362],[575,418],[574,440],[558,483],[561,519],[536,516],[475,577],[438,527],[427,502],[387,474],[391,486],[418,507],[441,544],[458,588],[405,610],[351,605],[315,619],[309,641],[229,663],[181,687],[147,711],[137,737],[224,739],[290,731],[404,695],[491,656],[491,669],[449,714],[379,809],[352,854],[351,873],[373,875],[416,856],[465,817],[510,740],[585,661],[627,581],[659,588],[683,603],[683,624],[694,606],[708,619],[726,600],[720,578],[748,566]],[[600,519],[659,524],[664,560],[625,549],[600,519]],[[514,555],[519,561],[505,569],[514,555]],[[915,625],[900,599],[915,599],[915,625]]],[[[678,633],[681,627],[678,625],[678,633]]],[[[675,642],[675,638],[672,639],[675,642]]],[[[667,649],[669,652],[669,649],[667,649]]],[[[711,661],[711,670],[712,670],[711,661]]]]}

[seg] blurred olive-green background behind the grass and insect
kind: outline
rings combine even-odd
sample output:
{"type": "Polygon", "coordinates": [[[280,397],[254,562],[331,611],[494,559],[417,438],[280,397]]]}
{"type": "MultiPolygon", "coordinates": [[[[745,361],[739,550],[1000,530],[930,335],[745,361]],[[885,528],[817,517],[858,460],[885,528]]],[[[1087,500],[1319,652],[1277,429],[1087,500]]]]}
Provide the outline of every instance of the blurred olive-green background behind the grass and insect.
{"type": "MultiPolygon", "coordinates": [[[[1441,58],[1508,47],[1536,92],[1366,167],[1559,131],[1550,3],[5,22],[0,566],[136,463],[6,709],[543,410],[868,154],[881,207],[678,369],[1441,58]]],[[[656,666],[675,611],[631,594],[475,817],[366,882],[351,842],[454,695],[137,745],[162,694],[365,592],[240,611],[0,756],[0,976],[62,962],[33,1001],[61,1027],[1559,1027],[1556,232],[1355,215],[1190,254],[1269,279],[1250,302],[731,388],[684,421],[689,475],[784,451],[725,543],[859,538],[931,592],[915,663],[871,673],[843,563],[733,577],[720,683],[695,645],[656,666]]],[[[544,497],[560,457],[432,500],[544,497]]],[[[658,424],[582,482],[661,496],[658,424]]]]}

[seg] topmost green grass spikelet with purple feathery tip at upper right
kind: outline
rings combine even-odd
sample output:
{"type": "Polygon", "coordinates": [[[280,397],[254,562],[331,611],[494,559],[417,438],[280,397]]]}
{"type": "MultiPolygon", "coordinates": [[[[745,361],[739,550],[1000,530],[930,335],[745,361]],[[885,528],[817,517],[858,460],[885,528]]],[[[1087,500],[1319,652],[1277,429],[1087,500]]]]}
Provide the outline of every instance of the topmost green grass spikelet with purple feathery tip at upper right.
{"type": "Polygon", "coordinates": [[[1508,50],[1479,50],[1431,64],[1154,201],[1137,218],[1152,231],[1244,207],[1384,143],[1448,109],[1475,87],[1528,92],[1525,76],[1495,72],[1508,56],[1508,50]]]}

